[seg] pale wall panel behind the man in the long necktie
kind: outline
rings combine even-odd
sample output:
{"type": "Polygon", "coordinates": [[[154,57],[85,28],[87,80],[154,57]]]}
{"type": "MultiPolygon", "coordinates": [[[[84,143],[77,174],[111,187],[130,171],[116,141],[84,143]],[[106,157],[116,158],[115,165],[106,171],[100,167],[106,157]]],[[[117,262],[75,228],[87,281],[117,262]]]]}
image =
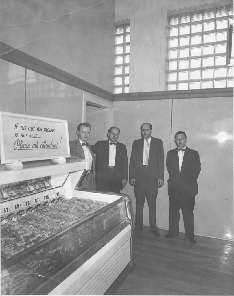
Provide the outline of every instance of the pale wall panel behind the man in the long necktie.
{"type": "MultiPolygon", "coordinates": [[[[152,136],[162,139],[164,153],[170,149],[171,141],[171,100],[135,101],[135,102],[114,102],[114,125],[120,128],[119,142],[126,144],[128,162],[130,161],[132,143],[140,139],[140,126],[149,122],[153,126],[152,136]]],[[[167,194],[168,173],[165,169],[165,184],[158,190],[157,197],[157,225],[159,228],[168,229],[169,197],[167,194]]],[[[136,200],[134,187],[128,184],[124,193],[128,194],[133,202],[135,213],[136,200]]],[[[144,225],[149,225],[148,205],[144,206],[144,225]]]]}

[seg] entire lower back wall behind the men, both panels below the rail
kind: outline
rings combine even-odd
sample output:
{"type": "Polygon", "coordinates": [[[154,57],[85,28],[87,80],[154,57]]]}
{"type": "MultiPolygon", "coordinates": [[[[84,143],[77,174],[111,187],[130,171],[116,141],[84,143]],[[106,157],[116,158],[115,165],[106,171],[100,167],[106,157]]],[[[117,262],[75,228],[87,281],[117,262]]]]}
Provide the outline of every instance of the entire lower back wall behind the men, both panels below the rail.
{"type": "MultiPolygon", "coordinates": [[[[162,139],[166,153],[174,149],[171,142],[171,100],[114,103],[114,124],[121,130],[119,141],[127,146],[130,160],[132,143],[140,139],[140,126],[153,125],[152,136],[162,139]],[[172,148],[170,148],[172,147],[172,148]]],[[[173,100],[172,135],[187,133],[187,146],[197,150],[201,159],[198,195],[195,200],[194,233],[233,239],[233,98],[202,98],[173,100]],[[217,135],[224,131],[228,139],[219,142],[217,135]]],[[[157,225],[168,229],[169,175],[165,166],[165,184],[158,190],[157,225]]],[[[134,188],[129,183],[124,189],[133,201],[134,188]]],[[[144,225],[149,225],[148,205],[144,207],[144,225]]],[[[179,230],[184,232],[181,215],[179,230]]]]}

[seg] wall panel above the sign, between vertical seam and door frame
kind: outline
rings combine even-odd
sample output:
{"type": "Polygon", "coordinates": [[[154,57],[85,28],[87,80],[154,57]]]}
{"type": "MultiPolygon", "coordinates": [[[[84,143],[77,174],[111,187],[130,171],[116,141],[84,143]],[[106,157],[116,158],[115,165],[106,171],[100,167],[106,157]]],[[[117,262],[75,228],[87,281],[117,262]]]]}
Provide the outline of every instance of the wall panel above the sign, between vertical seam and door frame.
{"type": "Polygon", "coordinates": [[[68,120],[70,141],[82,122],[83,91],[27,70],[26,114],[68,120]]]}

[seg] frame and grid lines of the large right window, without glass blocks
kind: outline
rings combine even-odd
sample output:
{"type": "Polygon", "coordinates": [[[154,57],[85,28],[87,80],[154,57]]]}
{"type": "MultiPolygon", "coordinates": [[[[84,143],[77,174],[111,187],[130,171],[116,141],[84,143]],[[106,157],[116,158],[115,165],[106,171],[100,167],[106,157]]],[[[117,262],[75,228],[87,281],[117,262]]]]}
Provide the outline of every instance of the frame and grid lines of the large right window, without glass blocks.
{"type": "MultiPolygon", "coordinates": [[[[232,76],[230,76],[229,74],[228,74],[228,68],[231,68],[232,70],[233,70],[233,65],[230,67],[228,67],[227,65],[213,65],[213,76],[212,76],[212,78],[202,78],[202,73],[203,73],[203,70],[208,70],[208,69],[210,69],[211,67],[210,66],[207,66],[207,67],[203,67],[203,65],[201,64],[199,67],[194,67],[194,68],[191,68],[190,67],[190,62],[191,62],[191,48],[193,48],[195,45],[193,45],[193,44],[191,44],[191,36],[201,36],[202,37],[202,43],[200,43],[200,44],[196,44],[196,46],[197,47],[201,47],[201,50],[202,50],[202,52],[201,52],[201,55],[200,56],[197,56],[197,58],[200,58],[201,59],[201,63],[202,63],[202,60],[203,60],[203,57],[205,57],[205,58],[214,58],[214,57],[222,57],[222,56],[225,56],[225,58],[227,58],[227,50],[226,50],[226,52],[225,53],[216,53],[216,52],[214,52],[213,54],[206,54],[205,56],[203,55],[203,47],[204,47],[204,43],[203,43],[203,36],[204,36],[204,34],[206,34],[206,33],[209,33],[209,32],[214,32],[214,34],[215,34],[215,36],[216,36],[216,33],[217,32],[226,32],[226,31],[228,31],[228,28],[221,28],[221,29],[216,29],[215,28],[215,30],[208,30],[208,31],[204,31],[203,30],[203,26],[204,26],[204,23],[206,23],[206,22],[208,22],[208,21],[210,21],[210,20],[217,20],[217,18],[216,18],[216,15],[215,15],[215,18],[212,18],[212,19],[209,19],[209,20],[204,20],[204,18],[202,19],[202,21],[201,20],[198,20],[198,21],[196,21],[196,22],[191,22],[191,18],[189,19],[189,22],[186,22],[185,23],[185,25],[189,25],[189,27],[190,27],[190,29],[189,29],[189,33],[187,33],[187,34],[183,34],[183,35],[180,35],[179,34],[179,31],[178,31],[178,34],[177,35],[175,35],[175,38],[177,38],[177,46],[173,46],[173,47],[169,47],[169,38],[171,38],[172,39],[172,36],[169,36],[169,27],[171,27],[171,28],[178,28],[178,30],[179,30],[179,28],[180,28],[180,26],[181,26],[181,24],[180,24],[180,22],[178,22],[178,24],[175,24],[174,26],[169,26],[169,17],[172,17],[172,16],[180,16],[180,15],[183,15],[183,14],[188,14],[188,13],[190,13],[190,16],[191,16],[191,13],[194,13],[194,12],[204,12],[204,10],[207,10],[207,9],[216,9],[216,8],[219,8],[219,7],[225,7],[225,6],[228,6],[228,5],[233,5],[233,3],[231,2],[231,1],[225,1],[225,2],[223,2],[222,4],[219,2],[219,3],[213,3],[213,4],[209,4],[209,5],[202,5],[202,6],[195,6],[195,7],[187,7],[187,8],[185,8],[185,9],[178,9],[178,10],[173,10],[173,11],[167,11],[167,17],[166,17],[166,39],[165,39],[165,45],[166,45],[166,47],[165,47],[165,91],[171,91],[171,90],[169,90],[169,85],[170,85],[170,83],[171,84],[173,84],[174,83],[174,85],[176,85],[176,89],[173,89],[173,90],[185,90],[185,89],[187,89],[187,90],[190,90],[190,89],[193,89],[193,90],[195,90],[195,89],[205,89],[205,87],[202,87],[202,83],[207,83],[207,81],[211,81],[212,80],[212,86],[209,86],[209,87],[207,87],[207,88],[215,88],[215,85],[214,85],[214,83],[216,82],[218,82],[218,81],[223,81],[223,76],[222,77],[215,77],[215,73],[214,73],[214,71],[215,70],[218,70],[219,72],[221,71],[220,69],[224,69],[225,68],[225,70],[226,70],[226,75],[225,75],[225,80],[226,80],[226,83],[225,83],[225,87],[230,87],[230,85],[228,84],[228,82],[230,81],[230,83],[232,83],[232,85],[233,85],[233,74],[232,74],[232,76]],[[200,33],[198,32],[198,33],[192,33],[191,32],[191,25],[193,24],[200,24],[202,22],[202,31],[200,31],[200,33]],[[189,44],[188,45],[184,45],[184,46],[179,46],[179,40],[180,40],[180,36],[182,36],[183,38],[189,38],[189,44]],[[175,57],[174,59],[171,59],[170,61],[171,62],[175,62],[175,63],[177,63],[177,68],[174,70],[169,70],[169,68],[168,68],[168,65],[169,65],[169,49],[175,49],[175,50],[177,50],[177,57],[175,57]],[[179,57],[179,49],[188,49],[189,50],[189,55],[187,56],[187,57],[184,57],[184,58],[182,58],[182,57],[179,57]],[[188,60],[189,61],[189,64],[188,64],[188,67],[187,68],[179,68],[179,62],[182,62],[182,61],[185,61],[185,60],[188,60]],[[195,79],[195,80],[191,80],[190,79],[190,73],[191,73],[191,70],[192,71],[198,71],[198,70],[200,70],[200,79],[195,79]],[[168,80],[168,75],[170,74],[170,73],[173,73],[174,72],[174,75],[176,75],[176,80],[174,80],[174,81],[169,81],[168,80]],[[181,79],[181,80],[179,80],[179,77],[178,77],[178,75],[179,75],[179,73],[181,73],[181,74],[183,74],[183,72],[184,72],[184,74],[186,74],[187,75],[187,79],[181,79]],[[187,72],[187,73],[186,73],[187,72]],[[179,88],[179,83],[186,83],[186,85],[187,85],[187,88],[179,88]],[[190,84],[191,83],[198,83],[199,84],[199,87],[197,87],[197,88],[190,88],[190,84]]],[[[228,16],[228,20],[229,20],[229,16],[228,16]]],[[[227,19],[227,17],[226,16],[224,16],[224,17],[219,17],[218,18],[218,20],[223,20],[223,19],[227,19]]],[[[231,23],[231,24],[233,24],[233,22],[231,23]]],[[[182,24],[182,25],[184,25],[184,24],[182,24]]],[[[230,22],[228,23],[228,26],[230,25],[230,22]]],[[[214,46],[214,50],[215,50],[215,48],[216,48],[216,44],[217,45],[219,45],[219,44],[225,44],[225,43],[227,43],[228,44],[228,38],[227,38],[227,40],[224,40],[224,41],[218,41],[218,42],[216,42],[216,40],[214,40],[214,42],[212,43],[206,43],[205,44],[205,46],[214,46]]],[[[194,57],[192,57],[193,59],[195,59],[196,57],[194,56],[194,57]]],[[[217,71],[217,72],[218,72],[217,71]]],[[[192,72],[193,73],[193,72],[192,72]]],[[[219,74],[220,75],[220,74],[219,74]]],[[[174,79],[174,78],[173,78],[174,79]]],[[[219,86],[219,87],[222,87],[222,86],[219,86]]],[[[218,88],[218,87],[217,87],[218,88]]]]}

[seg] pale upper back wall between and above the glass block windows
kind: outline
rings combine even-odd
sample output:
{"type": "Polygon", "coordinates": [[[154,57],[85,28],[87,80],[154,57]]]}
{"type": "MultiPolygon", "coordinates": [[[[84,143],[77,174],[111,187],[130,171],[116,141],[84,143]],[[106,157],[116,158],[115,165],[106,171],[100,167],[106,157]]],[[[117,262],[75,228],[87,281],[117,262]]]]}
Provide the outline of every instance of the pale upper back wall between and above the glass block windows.
{"type": "Polygon", "coordinates": [[[131,20],[129,92],[164,91],[166,14],[223,6],[232,0],[116,0],[115,19],[131,20]],[[132,62],[132,64],[131,64],[132,62]]]}

